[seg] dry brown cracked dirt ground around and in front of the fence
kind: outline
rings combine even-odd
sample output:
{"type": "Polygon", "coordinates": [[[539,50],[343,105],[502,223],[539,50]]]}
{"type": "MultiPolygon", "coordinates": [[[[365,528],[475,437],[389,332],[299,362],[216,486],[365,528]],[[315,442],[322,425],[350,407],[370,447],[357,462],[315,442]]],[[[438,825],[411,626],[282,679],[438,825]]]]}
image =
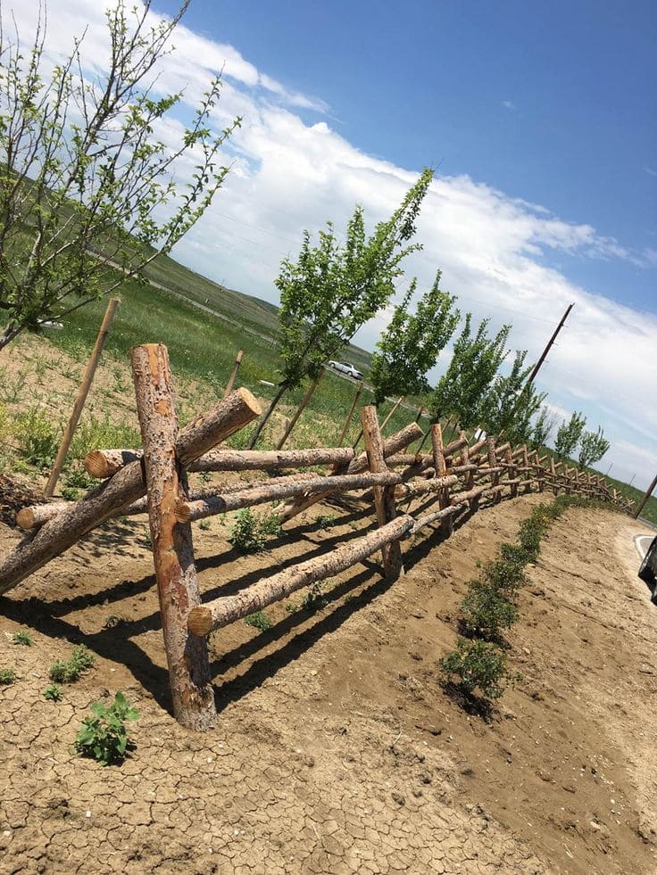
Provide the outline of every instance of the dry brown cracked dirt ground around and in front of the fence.
{"type": "MultiPolygon", "coordinates": [[[[655,871],[657,615],[634,576],[636,524],[570,510],[553,526],[509,635],[523,678],[491,722],[439,684],[476,562],[537,500],[411,545],[392,587],[361,565],[315,613],[283,604],[270,631],[220,631],[207,735],[165,710],[143,526],[96,532],[46,566],[0,599],[0,666],[18,674],[0,688],[0,871],[655,871]],[[10,643],[18,629],[31,648],[10,643]],[[96,666],[47,702],[47,666],[79,641],[96,666]],[[141,714],[137,747],[103,768],[71,746],[116,689],[141,714]]],[[[260,557],[236,557],[219,523],[196,530],[202,591],[355,536],[358,514],[337,513],[350,524],[314,531],[311,513],[260,557]]],[[[7,549],[16,534],[0,534],[7,549]]]]}

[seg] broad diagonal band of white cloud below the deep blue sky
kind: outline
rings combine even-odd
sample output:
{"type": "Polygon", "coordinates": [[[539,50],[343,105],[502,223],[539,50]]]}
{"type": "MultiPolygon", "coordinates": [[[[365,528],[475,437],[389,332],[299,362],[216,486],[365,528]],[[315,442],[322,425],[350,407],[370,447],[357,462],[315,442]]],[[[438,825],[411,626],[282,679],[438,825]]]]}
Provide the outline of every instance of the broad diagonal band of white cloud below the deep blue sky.
{"type": "MultiPolygon", "coordinates": [[[[21,29],[35,20],[35,10],[26,8],[30,5],[15,10],[21,29]]],[[[89,21],[89,64],[101,70],[107,53],[102,9],[95,0],[58,5],[56,19],[49,22],[48,49],[68,48],[80,21],[89,21]]],[[[417,170],[363,153],[330,128],[326,116],[305,122],[296,110],[325,111],[326,105],[270,78],[232,46],[188,29],[179,29],[174,42],[176,52],[162,63],[158,87],[177,90],[187,84],[185,101],[191,106],[209,76],[223,69],[217,121],[223,127],[237,113],[245,119],[231,140],[235,164],[224,188],[176,253],[202,273],[275,300],[279,262],[298,251],[305,227],[317,230],[332,219],[339,231],[355,202],[363,204],[370,224],[387,218],[417,178],[417,170]]],[[[514,109],[511,101],[503,105],[514,109]]],[[[167,136],[175,135],[175,127],[167,136]]],[[[459,296],[462,310],[472,310],[477,318],[491,316],[494,326],[511,321],[511,342],[527,348],[530,358],[537,358],[563,310],[575,303],[538,383],[560,414],[583,409],[589,425],[604,426],[614,445],[609,456],[614,471],[625,466],[629,476],[645,469],[637,483],[649,481],[657,433],[652,403],[657,316],[578,285],[547,266],[546,257],[562,252],[644,268],[654,263],[651,253],[636,252],[599,235],[590,224],[560,219],[467,175],[435,179],[418,239],[424,251],[408,260],[407,275],[429,284],[442,268],[443,285],[459,296]]],[[[380,326],[378,319],[363,328],[359,341],[371,346],[380,326]]]]}

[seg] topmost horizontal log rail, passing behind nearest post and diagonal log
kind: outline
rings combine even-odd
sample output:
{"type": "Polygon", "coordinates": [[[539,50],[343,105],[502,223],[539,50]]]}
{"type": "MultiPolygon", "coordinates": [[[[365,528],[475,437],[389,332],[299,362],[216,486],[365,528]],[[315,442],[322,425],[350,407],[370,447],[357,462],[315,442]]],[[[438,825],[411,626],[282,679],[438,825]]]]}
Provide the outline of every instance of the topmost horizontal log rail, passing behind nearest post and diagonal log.
{"type": "MultiPolygon", "coordinates": [[[[339,465],[350,462],[351,447],[327,450],[213,450],[195,459],[189,471],[271,471],[311,465],[339,465]]],[[[129,462],[141,458],[140,450],[92,450],[85,458],[85,469],[92,477],[112,477],[129,462]]]]}

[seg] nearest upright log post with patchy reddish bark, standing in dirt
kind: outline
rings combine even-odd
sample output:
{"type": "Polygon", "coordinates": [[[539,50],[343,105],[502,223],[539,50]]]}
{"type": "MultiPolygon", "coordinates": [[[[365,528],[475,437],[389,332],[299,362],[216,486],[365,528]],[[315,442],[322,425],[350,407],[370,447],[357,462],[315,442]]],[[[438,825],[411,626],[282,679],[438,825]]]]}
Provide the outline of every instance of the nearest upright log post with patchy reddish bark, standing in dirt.
{"type": "Polygon", "coordinates": [[[216,719],[207,640],[187,631],[187,615],[201,604],[192,530],[174,510],[187,497],[187,477],[176,459],[178,419],[171,392],[169,356],[160,343],[130,350],[137,416],[144,446],[148,518],[160,597],[164,649],[173,714],[187,729],[207,731],[216,719]]]}

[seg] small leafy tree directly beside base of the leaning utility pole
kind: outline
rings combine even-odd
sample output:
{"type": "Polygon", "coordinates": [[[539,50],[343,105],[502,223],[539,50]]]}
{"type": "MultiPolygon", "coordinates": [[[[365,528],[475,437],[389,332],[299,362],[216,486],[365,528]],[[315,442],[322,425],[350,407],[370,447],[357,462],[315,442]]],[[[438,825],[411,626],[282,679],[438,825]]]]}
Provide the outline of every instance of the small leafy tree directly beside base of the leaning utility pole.
{"type": "Polygon", "coordinates": [[[483,402],[481,424],[487,432],[504,433],[512,443],[528,442],[533,426],[532,419],[545,400],[545,393],[536,392],[528,382],[532,365],[525,367],[527,351],[517,351],[511,373],[497,376],[483,402]]]}

